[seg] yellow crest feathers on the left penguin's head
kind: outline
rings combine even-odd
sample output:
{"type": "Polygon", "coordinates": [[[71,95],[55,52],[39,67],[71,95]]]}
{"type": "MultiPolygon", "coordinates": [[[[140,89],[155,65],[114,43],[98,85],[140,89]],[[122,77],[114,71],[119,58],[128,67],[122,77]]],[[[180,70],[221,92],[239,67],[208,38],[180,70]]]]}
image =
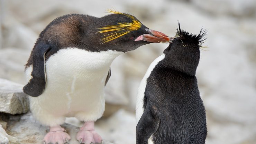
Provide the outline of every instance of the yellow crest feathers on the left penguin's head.
{"type": "Polygon", "coordinates": [[[109,34],[103,35],[104,38],[100,39],[101,43],[106,43],[106,42],[112,41],[112,40],[114,40],[120,36],[123,36],[131,31],[136,31],[142,25],[134,16],[132,16],[130,14],[121,13],[121,12],[114,11],[114,10],[108,10],[108,12],[125,15],[125,16],[129,17],[132,20],[132,22],[118,23],[117,25],[106,25],[106,26],[102,26],[101,28],[98,28],[100,31],[98,31],[97,33],[111,32],[109,34]]]}

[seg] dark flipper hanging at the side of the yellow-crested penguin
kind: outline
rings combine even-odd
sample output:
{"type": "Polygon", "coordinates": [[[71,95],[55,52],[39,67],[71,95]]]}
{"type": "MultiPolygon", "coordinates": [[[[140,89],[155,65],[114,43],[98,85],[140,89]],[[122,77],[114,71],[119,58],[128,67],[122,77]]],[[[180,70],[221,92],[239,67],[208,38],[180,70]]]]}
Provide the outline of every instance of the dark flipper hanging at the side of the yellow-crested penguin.
{"type": "Polygon", "coordinates": [[[32,97],[40,96],[46,85],[45,54],[51,49],[50,45],[39,41],[34,49],[32,78],[23,87],[24,93],[32,97]]]}

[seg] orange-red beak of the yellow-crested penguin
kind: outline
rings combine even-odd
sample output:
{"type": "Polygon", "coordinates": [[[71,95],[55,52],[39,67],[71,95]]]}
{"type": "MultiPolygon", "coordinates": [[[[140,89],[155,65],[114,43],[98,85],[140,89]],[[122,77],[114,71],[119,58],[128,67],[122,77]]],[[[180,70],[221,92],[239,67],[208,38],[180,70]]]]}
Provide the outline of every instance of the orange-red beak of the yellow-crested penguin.
{"type": "Polygon", "coordinates": [[[172,41],[174,37],[169,37],[164,33],[151,30],[151,29],[146,29],[150,34],[143,34],[140,35],[136,38],[134,41],[147,41],[151,43],[161,43],[161,42],[169,42],[172,41]]]}

